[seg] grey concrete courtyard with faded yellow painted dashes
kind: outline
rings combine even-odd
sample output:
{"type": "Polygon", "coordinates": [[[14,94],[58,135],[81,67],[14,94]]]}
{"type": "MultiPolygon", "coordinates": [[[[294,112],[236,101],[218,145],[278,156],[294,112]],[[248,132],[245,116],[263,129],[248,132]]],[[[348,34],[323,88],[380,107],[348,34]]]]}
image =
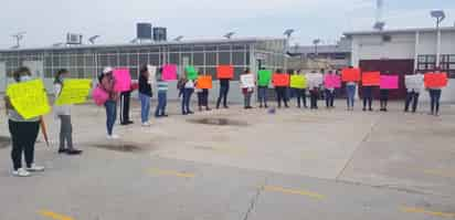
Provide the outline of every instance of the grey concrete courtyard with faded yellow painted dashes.
{"type": "Polygon", "coordinates": [[[141,127],[135,101],[136,124],[116,126],[119,140],[105,137],[104,108],[80,105],[84,154],[56,154],[47,115],[51,147],[40,136],[35,154],[46,170],[29,178],[10,175],[2,108],[0,220],[455,219],[455,107],[434,117],[402,103],[387,113],[336,105],[181,116],[170,103],[170,117],[141,127]]]}

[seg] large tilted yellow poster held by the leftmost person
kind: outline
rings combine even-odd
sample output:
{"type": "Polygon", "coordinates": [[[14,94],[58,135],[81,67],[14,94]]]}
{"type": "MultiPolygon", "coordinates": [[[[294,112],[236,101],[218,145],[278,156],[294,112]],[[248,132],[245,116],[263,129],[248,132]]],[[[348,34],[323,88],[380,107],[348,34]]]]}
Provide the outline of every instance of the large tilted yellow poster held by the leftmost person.
{"type": "Polygon", "coordinates": [[[51,111],[42,80],[11,84],[7,88],[7,95],[14,109],[25,119],[51,111]]]}

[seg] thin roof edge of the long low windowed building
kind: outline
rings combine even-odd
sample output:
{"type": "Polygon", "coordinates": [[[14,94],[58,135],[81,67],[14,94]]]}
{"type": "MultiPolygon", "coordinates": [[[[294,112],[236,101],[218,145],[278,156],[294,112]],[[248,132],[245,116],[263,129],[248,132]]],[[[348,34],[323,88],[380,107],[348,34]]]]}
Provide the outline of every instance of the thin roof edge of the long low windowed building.
{"type": "Polygon", "coordinates": [[[222,44],[222,43],[254,43],[260,41],[285,41],[284,38],[239,38],[239,39],[205,39],[205,40],[186,40],[186,41],[165,41],[154,43],[124,43],[124,44],[83,44],[75,46],[45,46],[29,49],[7,49],[1,52],[22,52],[22,51],[59,51],[59,50],[86,50],[86,49],[109,49],[109,48],[144,48],[159,45],[186,45],[186,44],[222,44]]]}

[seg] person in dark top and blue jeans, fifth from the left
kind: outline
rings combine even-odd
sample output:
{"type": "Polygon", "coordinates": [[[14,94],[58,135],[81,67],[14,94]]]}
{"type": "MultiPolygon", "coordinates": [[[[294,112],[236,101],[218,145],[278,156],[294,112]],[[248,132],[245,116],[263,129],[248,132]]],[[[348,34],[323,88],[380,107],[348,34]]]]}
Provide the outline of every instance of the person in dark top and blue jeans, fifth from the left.
{"type": "Polygon", "coordinates": [[[140,99],[140,121],[142,126],[150,126],[150,101],[152,96],[150,84],[150,72],[147,65],[142,65],[139,75],[139,99],[140,99]]]}

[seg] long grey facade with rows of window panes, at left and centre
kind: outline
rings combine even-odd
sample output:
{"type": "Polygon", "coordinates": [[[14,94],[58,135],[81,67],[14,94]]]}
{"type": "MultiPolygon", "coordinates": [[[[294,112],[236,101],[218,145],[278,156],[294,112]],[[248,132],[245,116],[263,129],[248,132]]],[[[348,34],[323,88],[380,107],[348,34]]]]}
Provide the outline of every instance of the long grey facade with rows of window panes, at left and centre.
{"type": "MultiPolygon", "coordinates": [[[[30,67],[34,77],[43,78],[51,93],[53,75],[60,69],[67,69],[75,78],[96,78],[96,74],[105,66],[128,67],[131,77],[137,78],[144,64],[176,64],[179,73],[182,73],[186,65],[194,65],[200,73],[211,74],[215,80],[216,66],[231,64],[234,66],[235,77],[230,98],[240,102],[241,92],[240,88],[236,90],[239,75],[245,69],[253,73],[260,67],[283,69],[285,45],[285,39],[235,39],[0,50],[0,93],[12,81],[14,70],[22,65],[30,67]]],[[[174,84],[172,82],[169,85],[170,98],[177,98],[177,90],[172,90],[174,84]]],[[[214,92],[218,94],[216,82],[213,88],[212,99],[215,97],[214,92]]]]}

